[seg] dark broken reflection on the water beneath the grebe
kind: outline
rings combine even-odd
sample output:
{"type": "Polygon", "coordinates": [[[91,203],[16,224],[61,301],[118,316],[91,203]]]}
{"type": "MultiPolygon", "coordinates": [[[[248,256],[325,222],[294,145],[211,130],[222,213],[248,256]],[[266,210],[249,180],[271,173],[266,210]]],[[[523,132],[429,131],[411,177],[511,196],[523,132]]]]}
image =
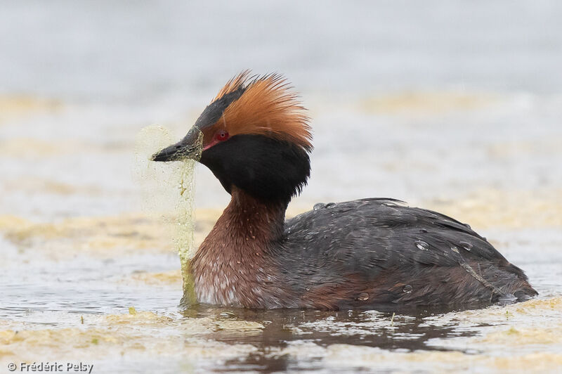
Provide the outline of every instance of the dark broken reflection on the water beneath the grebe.
{"type": "MultiPolygon", "coordinates": [[[[414,311],[410,311],[414,312],[414,311]]],[[[379,311],[311,311],[278,310],[251,311],[244,309],[217,309],[199,306],[183,311],[184,316],[213,316],[256,321],[265,326],[261,333],[237,334],[218,330],[212,339],[229,344],[252,344],[257,347],[245,359],[226,361],[218,370],[288,370],[296,367],[322,368],[314,353],[308,360],[296,363],[284,349],[295,342],[313,342],[320,347],[331,344],[351,344],[380,349],[413,352],[418,349],[447,351],[445,347],[431,347],[431,339],[471,337],[477,330],[461,330],[456,323],[429,325],[424,317],[436,311],[423,310],[418,314],[381,313],[379,311]],[[308,362],[307,362],[308,361],[308,362]]]]}

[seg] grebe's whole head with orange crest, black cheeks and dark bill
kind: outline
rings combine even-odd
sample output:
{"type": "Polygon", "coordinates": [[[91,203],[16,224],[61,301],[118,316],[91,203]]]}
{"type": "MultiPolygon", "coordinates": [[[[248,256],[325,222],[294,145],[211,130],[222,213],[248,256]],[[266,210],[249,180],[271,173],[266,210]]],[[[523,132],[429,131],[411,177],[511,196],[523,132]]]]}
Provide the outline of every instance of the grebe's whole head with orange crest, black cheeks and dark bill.
{"type": "Polygon", "coordinates": [[[152,160],[198,160],[228,193],[236,186],[288,202],[310,174],[311,140],[306,109],[287,80],[246,71],[227,82],[181,141],[152,160]]]}

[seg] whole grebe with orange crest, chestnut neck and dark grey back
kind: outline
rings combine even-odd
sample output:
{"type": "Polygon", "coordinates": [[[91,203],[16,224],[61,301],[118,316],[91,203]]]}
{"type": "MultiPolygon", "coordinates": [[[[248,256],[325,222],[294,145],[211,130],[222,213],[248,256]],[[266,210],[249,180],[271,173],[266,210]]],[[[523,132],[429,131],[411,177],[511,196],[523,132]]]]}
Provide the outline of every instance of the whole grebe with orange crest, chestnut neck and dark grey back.
{"type": "Polygon", "coordinates": [[[311,127],[280,75],[230,79],[154,161],[199,158],[231,195],[190,262],[200,303],[256,309],[452,306],[537,295],[470,226],[399,200],[317,204],[285,221],[310,174],[311,127]],[[200,148],[202,134],[202,151],[200,148]]]}

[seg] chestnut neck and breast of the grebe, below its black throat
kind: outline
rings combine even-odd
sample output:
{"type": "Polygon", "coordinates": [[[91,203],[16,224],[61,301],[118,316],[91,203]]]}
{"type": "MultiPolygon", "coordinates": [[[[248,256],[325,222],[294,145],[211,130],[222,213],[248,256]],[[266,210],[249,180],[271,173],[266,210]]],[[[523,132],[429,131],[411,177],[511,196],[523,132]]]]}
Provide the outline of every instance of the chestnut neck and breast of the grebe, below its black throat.
{"type": "Polygon", "coordinates": [[[197,300],[260,307],[267,296],[271,305],[279,307],[283,295],[268,295],[262,283],[277,271],[268,258],[283,236],[287,203],[260,200],[234,186],[231,195],[230,204],[190,262],[197,300]]]}

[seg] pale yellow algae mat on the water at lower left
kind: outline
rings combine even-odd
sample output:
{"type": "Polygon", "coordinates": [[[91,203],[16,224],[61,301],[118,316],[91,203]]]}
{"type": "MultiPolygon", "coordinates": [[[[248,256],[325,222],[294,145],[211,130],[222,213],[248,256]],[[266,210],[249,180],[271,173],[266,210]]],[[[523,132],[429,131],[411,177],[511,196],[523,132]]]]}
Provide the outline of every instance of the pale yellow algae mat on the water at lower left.
{"type": "MultiPolygon", "coordinates": [[[[131,308],[133,309],[133,308],[131,308]]],[[[134,310],[134,309],[133,309],[134,310]]],[[[30,328],[29,325],[0,329],[0,360],[129,359],[138,355],[182,359],[233,359],[256,351],[250,344],[226,344],[199,335],[217,330],[252,335],[263,325],[233,321],[221,325],[213,318],[170,318],[151,311],[133,314],[88,315],[84,325],[64,328],[30,328]],[[253,328],[253,330],[251,329],[253,328]]],[[[0,324],[1,326],[1,324],[0,324]]]]}

